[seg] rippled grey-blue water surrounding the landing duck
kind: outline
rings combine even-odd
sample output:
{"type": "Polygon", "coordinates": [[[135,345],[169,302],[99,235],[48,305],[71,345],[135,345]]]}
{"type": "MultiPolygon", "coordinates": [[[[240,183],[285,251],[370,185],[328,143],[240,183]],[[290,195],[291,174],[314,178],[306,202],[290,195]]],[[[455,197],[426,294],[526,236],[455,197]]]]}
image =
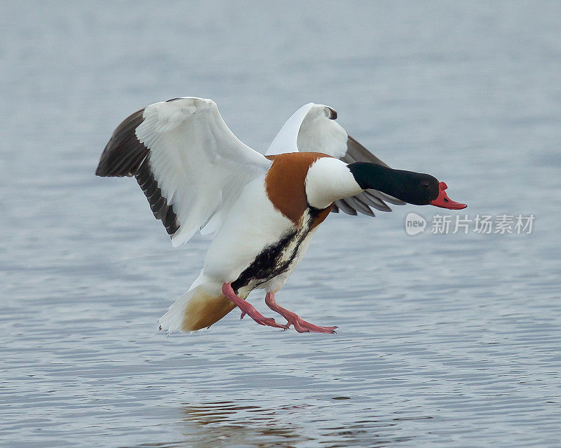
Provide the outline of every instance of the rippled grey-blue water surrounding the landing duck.
{"type": "Polygon", "coordinates": [[[2,2],[0,445],[560,446],[560,18],[553,1],[2,2]],[[452,217],[534,214],[533,231],[332,215],[277,298],[338,334],[233,312],[166,338],[209,239],[172,250],[133,179],[93,172],[123,118],[181,95],[260,151],[329,104],[394,168],[447,182],[469,205],[452,217]]]}

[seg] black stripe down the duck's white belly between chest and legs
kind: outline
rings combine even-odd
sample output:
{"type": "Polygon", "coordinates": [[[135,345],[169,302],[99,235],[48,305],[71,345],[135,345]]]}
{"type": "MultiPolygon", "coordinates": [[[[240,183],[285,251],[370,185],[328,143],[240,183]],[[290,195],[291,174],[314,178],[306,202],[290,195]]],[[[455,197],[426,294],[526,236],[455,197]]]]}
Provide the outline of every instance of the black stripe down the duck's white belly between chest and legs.
{"type": "Polygon", "coordinates": [[[255,283],[253,286],[255,288],[266,281],[271,280],[271,278],[280,276],[281,273],[288,271],[290,264],[292,264],[298,254],[302,241],[304,241],[306,236],[310,233],[311,223],[314,219],[316,219],[318,212],[320,212],[320,210],[313,208],[309,208],[309,210],[310,213],[308,222],[302,224],[303,226],[306,226],[305,231],[298,233],[299,229],[295,229],[287,233],[283,236],[283,238],[280,238],[278,243],[265,247],[264,250],[255,257],[255,260],[253,260],[253,262],[240,274],[240,276],[231,283],[231,287],[236,294],[238,293],[238,290],[244,286],[250,285],[250,283],[255,283]],[[297,241],[290,257],[284,261],[280,261],[283,251],[295,238],[297,238],[297,241]]]}

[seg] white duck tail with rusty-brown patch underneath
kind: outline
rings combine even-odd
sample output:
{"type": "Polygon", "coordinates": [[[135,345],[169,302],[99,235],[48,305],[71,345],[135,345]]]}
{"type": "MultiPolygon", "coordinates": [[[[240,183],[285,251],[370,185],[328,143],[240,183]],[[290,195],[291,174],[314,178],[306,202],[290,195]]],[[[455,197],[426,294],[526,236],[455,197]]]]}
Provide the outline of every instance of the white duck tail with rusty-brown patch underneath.
{"type": "Polygon", "coordinates": [[[236,305],[222,294],[221,287],[208,283],[201,273],[189,291],[177,299],[158,320],[160,330],[167,330],[168,333],[177,330],[193,332],[210,327],[222,319],[236,305]]]}

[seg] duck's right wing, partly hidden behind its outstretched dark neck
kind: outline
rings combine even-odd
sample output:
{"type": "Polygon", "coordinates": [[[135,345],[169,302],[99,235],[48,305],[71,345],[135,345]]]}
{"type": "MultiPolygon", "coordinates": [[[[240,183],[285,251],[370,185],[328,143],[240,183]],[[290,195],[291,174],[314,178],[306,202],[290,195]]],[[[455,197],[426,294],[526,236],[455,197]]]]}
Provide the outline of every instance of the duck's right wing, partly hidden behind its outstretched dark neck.
{"type": "MultiPolygon", "coordinates": [[[[267,155],[282,154],[285,152],[323,152],[337,157],[345,163],[371,162],[386,165],[377,156],[374,156],[362,144],[346,133],[335,119],[337,112],[331,107],[313,102],[300,107],[278,131],[267,155]]],[[[372,208],[391,212],[386,204],[405,204],[403,201],[377,190],[366,190],[351,198],[335,201],[332,212],[343,212],[356,215],[374,216],[372,208]]]]}

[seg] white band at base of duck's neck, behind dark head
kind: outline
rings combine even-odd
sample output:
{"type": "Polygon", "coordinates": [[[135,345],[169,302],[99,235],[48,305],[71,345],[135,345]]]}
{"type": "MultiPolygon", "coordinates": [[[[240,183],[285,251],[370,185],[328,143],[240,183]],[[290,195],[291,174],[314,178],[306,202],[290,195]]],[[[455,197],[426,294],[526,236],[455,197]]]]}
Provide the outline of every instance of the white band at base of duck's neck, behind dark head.
{"type": "Polygon", "coordinates": [[[306,197],[313,208],[327,208],[337,199],[349,198],[363,189],[356,183],[346,163],[338,158],[322,157],[306,175],[306,197]]]}

